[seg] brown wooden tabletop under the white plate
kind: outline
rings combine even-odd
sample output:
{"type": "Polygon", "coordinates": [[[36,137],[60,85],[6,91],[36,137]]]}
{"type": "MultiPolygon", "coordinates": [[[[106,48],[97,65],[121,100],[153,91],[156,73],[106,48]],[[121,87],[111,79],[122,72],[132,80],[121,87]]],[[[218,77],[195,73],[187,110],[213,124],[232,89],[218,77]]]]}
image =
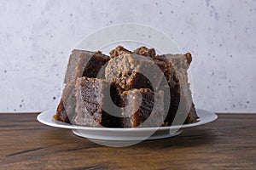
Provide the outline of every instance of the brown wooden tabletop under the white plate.
{"type": "Polygon", "coordinates": [[[256,169],[256,114],[218,120],[174,138],[110,148],[37,122],[0,114],[0,169],[256,169]]]}

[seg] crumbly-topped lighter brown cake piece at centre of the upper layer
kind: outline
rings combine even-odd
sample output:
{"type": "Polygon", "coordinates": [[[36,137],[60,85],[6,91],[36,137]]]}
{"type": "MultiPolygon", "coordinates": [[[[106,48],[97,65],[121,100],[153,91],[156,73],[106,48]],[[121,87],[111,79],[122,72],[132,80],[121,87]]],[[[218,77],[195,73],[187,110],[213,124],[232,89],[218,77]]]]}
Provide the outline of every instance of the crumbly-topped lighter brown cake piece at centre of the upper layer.
{"type": "MultiPolygon", "coordinates": [[[[161,63],[163,69],[165,63],[161,63]]],[[[158,88],[163,73],[154,60],[142,55],[124,53],[108,61],[105,77],[109,82],[115,82],[119,87],[128,90],[131,88],[158,88]]]]}

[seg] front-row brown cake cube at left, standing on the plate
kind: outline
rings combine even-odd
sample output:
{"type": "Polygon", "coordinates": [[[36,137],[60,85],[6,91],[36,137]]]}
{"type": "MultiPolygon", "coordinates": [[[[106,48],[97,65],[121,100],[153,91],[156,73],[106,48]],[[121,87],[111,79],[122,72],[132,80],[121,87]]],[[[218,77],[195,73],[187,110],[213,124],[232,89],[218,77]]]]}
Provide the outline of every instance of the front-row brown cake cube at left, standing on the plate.
{"type": "Polygon", "coordinates": [[[110,106],[110,86],[108,81],[102,79],[81,77],[77,80],[77,115],[74,117],[74,124],[90,127],[120,127],[120,117],[108,114],[115,109],[114,105],[110,106]]]}

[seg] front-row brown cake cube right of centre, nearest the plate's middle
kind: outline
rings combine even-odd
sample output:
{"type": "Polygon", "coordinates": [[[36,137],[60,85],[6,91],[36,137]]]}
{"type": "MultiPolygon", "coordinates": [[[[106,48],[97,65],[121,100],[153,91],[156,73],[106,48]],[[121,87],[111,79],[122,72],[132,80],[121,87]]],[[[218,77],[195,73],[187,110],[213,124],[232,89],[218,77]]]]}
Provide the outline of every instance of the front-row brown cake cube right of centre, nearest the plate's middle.
{"type": "Polygon", "coordinates": [[[125,102],[122,127],[160,127],[164,121],[164,94],[148,88],[121,94],[125,102]]]}

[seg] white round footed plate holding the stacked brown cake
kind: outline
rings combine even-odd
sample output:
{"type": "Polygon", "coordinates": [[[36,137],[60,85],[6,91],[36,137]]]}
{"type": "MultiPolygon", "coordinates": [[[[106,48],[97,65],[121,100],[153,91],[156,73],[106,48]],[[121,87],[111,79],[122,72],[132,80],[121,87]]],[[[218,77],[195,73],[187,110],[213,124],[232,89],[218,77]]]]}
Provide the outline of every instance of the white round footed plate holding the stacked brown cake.
{"type": "Polygon", "coordinates": [[[38,115],[37,119],[38,122],[44,123],[45,125],[51,127],[71,129],[74,134],[88,139],[108,141],[138,141],[144,139],[169,138],[181,133],[183,128],[196,127],[208,122],[212,122],[218,118],[216,114],[210,111],[204,111],[201,109],[196,111],[198,116],[200,116],[198,122],[172,127],[108,128],[74,126],[68,123],[53,120],[52,116],[55,115],[55,110],[44,111],[38,115]],[[172,130],[171,132],[173,133],[170,133],[170,130],[172,130]]]}

